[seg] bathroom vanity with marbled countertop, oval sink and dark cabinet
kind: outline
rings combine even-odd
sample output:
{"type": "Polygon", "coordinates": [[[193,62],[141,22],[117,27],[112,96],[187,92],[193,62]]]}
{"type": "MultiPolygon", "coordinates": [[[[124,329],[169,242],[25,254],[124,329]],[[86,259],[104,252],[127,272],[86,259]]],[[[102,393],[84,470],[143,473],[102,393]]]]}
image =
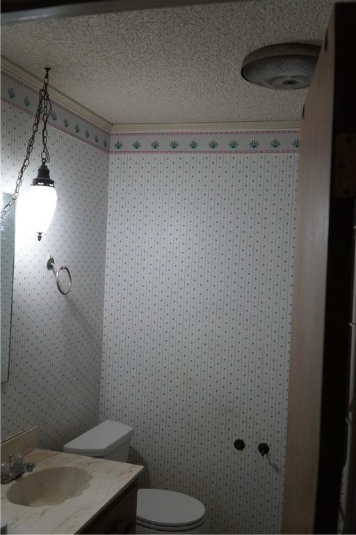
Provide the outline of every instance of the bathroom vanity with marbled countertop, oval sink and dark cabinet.
{"type": "Polygon", "coordinates": [[[33,449],[35,469],[1,484],[10,533],[135,533],[138,475],[143,467],[33,449]]]}

